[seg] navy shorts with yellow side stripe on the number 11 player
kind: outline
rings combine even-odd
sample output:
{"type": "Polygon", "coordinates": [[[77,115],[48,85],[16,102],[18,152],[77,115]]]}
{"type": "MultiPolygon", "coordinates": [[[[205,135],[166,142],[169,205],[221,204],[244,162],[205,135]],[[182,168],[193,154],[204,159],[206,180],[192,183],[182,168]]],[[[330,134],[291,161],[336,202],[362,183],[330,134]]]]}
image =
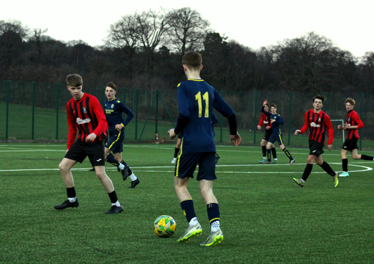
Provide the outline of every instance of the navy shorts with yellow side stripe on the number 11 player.
{"type": "Polygon", "coordinates": [[[175,164],[174,176],[178,178],[193,178],[196,166],[199,172],[196,180],[215,180],[215,152],[199,152],[180,154],[175,164]]]}

